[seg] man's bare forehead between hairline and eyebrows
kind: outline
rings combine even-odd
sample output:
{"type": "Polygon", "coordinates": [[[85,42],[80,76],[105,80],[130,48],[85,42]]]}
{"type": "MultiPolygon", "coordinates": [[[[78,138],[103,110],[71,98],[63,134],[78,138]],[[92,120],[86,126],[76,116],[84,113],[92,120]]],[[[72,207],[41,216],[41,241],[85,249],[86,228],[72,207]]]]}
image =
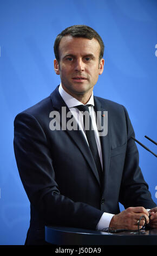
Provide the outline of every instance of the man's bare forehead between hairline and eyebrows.
{"type": "Polygon", "coordinates": [[[100,44],[95,38],[90,40],[87,38],[75,38],[71,35],[66,35],[63,36],[60,41],[59,52],[60,57],[67,54],[81,54],[82,56],[93,54],[95,57],[99,57],[100,44]]]}

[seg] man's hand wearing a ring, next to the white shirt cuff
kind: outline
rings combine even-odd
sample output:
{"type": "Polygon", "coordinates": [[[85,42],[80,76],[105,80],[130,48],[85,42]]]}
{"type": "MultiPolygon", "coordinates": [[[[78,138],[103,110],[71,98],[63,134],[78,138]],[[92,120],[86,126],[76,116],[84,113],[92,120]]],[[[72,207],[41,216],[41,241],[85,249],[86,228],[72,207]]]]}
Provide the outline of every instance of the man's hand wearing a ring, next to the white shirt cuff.
{"type": "MultiPolygon", "coordinates": [[[[157,225],[157,208],[156,209],[156,223],[157,225]]],[[[152,209],[153,210],[153,209],[152,209]]],[[[153,211],[154,212],[154,211],[153,211]]],[[[127,230],[138,230],[138,220],[141,216],[145,216],[146,223],[149,223],[148,211],[143,207],[129,207],[126,210],[120,212],[120,214],[114,215],[110,221],[109,227],[115,229],[127,229],[127,230]]],[[[152,213],[152,216],[154,214],[152,213]]],[[[152,217],[151,216],[151,217],[152,217]]],[[[139,228],[141,229],[145,224],[145,219],[140,221],[139,228]]]]}

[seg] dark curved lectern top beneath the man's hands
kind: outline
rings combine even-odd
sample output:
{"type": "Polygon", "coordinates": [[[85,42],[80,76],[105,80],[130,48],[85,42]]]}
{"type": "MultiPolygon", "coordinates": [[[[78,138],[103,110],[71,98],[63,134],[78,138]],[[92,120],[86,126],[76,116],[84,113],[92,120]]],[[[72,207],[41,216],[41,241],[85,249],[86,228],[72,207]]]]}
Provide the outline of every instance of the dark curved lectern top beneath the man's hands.
{"type": "Polygon", "coordinates": [[[157,229],[106,233],[102,231],[45,227],[45,241],[53,245],[157,245],[157,229]]]}

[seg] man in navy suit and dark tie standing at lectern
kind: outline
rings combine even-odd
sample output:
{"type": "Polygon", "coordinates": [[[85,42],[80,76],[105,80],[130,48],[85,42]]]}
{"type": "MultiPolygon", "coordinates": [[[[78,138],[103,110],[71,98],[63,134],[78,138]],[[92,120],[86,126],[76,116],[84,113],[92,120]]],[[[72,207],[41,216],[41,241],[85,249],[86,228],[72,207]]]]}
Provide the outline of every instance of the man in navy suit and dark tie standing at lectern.
{"type": "Polygon", "coordinates": [[[54,45],[60,86],[15,118],[17,167],[30,200],[26,245],[46,244],[45,225],[134,230],[143,215],[157,227],[126,108],[93,96],[103,49],[94,29],[65,29],[54,45]],[[86,129],[85,119],[92,129],[86,129]],[[119,202],[126,210],[120,212],[119,202]]]}

